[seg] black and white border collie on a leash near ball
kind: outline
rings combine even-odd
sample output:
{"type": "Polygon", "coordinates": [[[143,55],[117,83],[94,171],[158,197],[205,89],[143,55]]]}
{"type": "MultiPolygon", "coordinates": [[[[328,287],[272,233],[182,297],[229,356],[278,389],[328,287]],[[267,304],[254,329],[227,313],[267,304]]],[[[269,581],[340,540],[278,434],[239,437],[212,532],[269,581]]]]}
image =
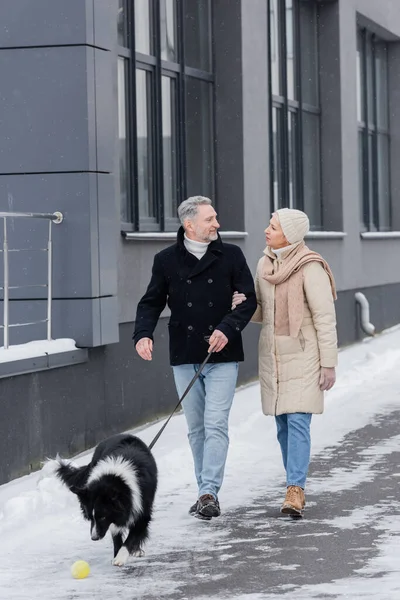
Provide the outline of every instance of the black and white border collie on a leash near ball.
{"type": "Polygon", "coordinates": [[[131,555],[143,556],[157,489],[157,466],[146,444],[133,435],[113,435],[96,447],[88,465],[59,458],[56,463],[57,477],[78,496],[91,522],[92,540],[110,529],[112,564],[122,567],[131,555]]]}

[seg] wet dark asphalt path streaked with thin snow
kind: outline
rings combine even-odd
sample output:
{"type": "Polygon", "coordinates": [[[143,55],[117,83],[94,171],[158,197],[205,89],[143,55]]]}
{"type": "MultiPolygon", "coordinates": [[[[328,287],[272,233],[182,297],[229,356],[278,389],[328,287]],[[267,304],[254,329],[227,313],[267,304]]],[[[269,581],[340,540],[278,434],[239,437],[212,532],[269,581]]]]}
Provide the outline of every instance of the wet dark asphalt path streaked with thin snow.
{"type": "MultiPolygon", "coordinates": [[[[388,521],[389,527],[393,520],[400,524],[399,424],[400,410],[381,415],[373,425],[348,435],[340,447],[315,457],[303,520],[280,516],[277,507],[283,492],[273,488],[251,507],[243,506],[212,523],[193,519],[193,529],[212,527],[217,534],[206,551],[177,549],[168,556],[153,556],[141,566],[136,563],[126,578],[149,578],[152,573],[159,577],[160,570],[167,578],[171,571],[173,577],[176,565],[183,563],[181,583],[172,596],[176,600],[233,600],[249,594],[256,594],[257,599],[284,595],[298,600],[302,593],[304,598],[337,597],[335,584],[325,593],[326,584],[355,577],[379,556],[388,521]],[[319,589],[313,591],[318,584],[319,589]],[[302,591],[303,586],[308,591],[302,591]]],[[[396,543],[400,547],[399,538],[396,543]]],[[[358,579],[365,578],[370,591],[371,585],[376,586],[377,595],[372,597],[377,600],[384,598],[379,592],[381,575],[370,570],[358,575],[358,579]],[[372,575],[377,583],[371,582],[372,575]]],[[[346,594],[347,588],[348,595],[340,597],[366,598],[357,594],[359,586],[360,581],[344,583],[337,593],[346,594]]],[[[159,600],[160,596],[141,598],[159,600]]]]}

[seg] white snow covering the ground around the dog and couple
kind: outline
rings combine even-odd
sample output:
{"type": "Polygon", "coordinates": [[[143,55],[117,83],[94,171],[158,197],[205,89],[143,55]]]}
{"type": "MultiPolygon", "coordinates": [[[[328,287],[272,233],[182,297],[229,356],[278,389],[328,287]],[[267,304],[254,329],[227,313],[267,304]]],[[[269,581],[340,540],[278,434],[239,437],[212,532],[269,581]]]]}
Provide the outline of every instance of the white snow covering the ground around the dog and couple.
{"type": "MultiPolygon", "coordinates": [[[[346,434],[373,423],[376,415],[389,413],[400,406],[400,329],[394,328],[375,338],[340,352],[338,381],[327,394],[326,410],[313,420],[313,454],[340,446],[346,434]],[[345,418],[344,418],[345,415],[345,418]]],[[[161,423],[154,423],[136,432],[146,443],[157,433],[161,423]]],[[[282,485],[282,466],[276,442],[273,419],[261,414],[259,386],[253,384],[237,390],[230,423],[230,451],[220,501],[224,511],[246,506],[248,516],[260,512],[255,499],[268,490],[282,485]]],[[[398,450],[400,436],[371,444],[357,457],[351,468],[337,467],[329,478],[310,479],[310,491],[328,487],[340,491],[369,481],[380,457],[398,450]]],[[[78,464],[90,460],[91,452],[76,457],[78,464]]],[[[332,528],[355,530],[365,516],[379,516],[374,527],[379,531],[377,553],[373,559],[350,578],[330,583],[290,584],[290,574],[298,568],[283,565],[271,555],[268,538],[270,522],[261,522],[252,528],[246,539],[228,539],[226,528],[218,520],[211,526],[187,515],[188,507],[196,497],[192,460],[186,439],[186,425],[181,414],[174,417],[154,447],[160,483],[156,498],[151,537],[146,557],[132,559],[141,577],[135,578],[132,567],[117,569],[111,565],[109,538],[92,542],[89,526],[81,517],[76,498],[53,476],[51,465],[40,472],[12,481],[0,487],[0,598],[7,600],[61,600],[61,599],[114,599],[151,597],[174,599],[187,574],[188,562],[184,551],[198,556],[199,564],[207,557],[209,548],[218,547],[219,572],[210,574],[214,581],[224,580],[224,566],[238,556],[243,544],[253,548],[258,544],[268,557],[270,571],[287,571],[287,584],[277,594],[231,594],[229,600],[296,600],[312,598],[352,598],[389,600],[400,594],[400,516],[387,515],[383,506],[366,506],[363,511],[354,508],[346,517],[329,519],[325,533],[332,528]],[[173,508],[173,510],[171,510],[173,508]],[[70,567],[76,560],[86,560],[91,567],[87,579],[74,580],[70,567]],[[151,561],[153,570],[146,574],[151,561]],[[158,571],[154,570],[158,568],[158,571]],[[351,590],[351,592],[349,592],[351,590]],[[151,596],[150,596],[151,595],[151,596]]],[[[400,471],[393,474],[400,477],[400,471]]],[[[249,521],[251,523],[251,521],[249,521]]],[[[229,532],[232,533],[232,532],[229,532]]],[[[301,533],[299,532],[301,535],[301,533]]],[[[305,534],[302,544],[309,551],[316,550],[317,538],[305,534]]],[[[316,554],[316,553],[315,553],[316,554]]],[[[315,560],[319,560],[316,558],[315,560]]],[[[191,564],[193,569],[193,564],[191,564]]],[[[242,568],[245,564],[242,563],[242,568]]],[[[203,573],[192,571],[193,581],[201,582],[203,573]]],[[[181,596],[179,596],[181,597],[181,596]]],[[[211,600],[226,596],[199,595],[196,600],[211,600]]]]}

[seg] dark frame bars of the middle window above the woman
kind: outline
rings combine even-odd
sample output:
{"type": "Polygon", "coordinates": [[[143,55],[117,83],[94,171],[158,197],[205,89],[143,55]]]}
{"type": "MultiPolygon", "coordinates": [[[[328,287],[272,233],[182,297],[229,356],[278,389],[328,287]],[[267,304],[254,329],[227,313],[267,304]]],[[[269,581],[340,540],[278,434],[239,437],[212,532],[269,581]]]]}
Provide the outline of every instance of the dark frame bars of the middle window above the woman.
{"type": "MultiPolygon", "coordinates": [[[[302,70],[302,35],[301,35],[301,20],[300,20],[300,2],[302,0],[292,1],[292,18],[293,18],[293,60],[294,60],[294,96],[295,99],[289,98],[288,93],[288,71],[287,71],[287,20],[286,20],[286,6],[287,0],[277,0],[278,14],[276,19],[277,35],[272,35],[271,25],[271,6],[273,0],[268,0],[268,64],[269,64],[269,138],[270,138],[270,203],[271,211],[277,208],[290,207],[304,210],[305,207],[305,190],[304,190],[304,165],[301,157],[303,156],[303,116],[305,114],[315,115],[318,117],[318,141],[317,141],[317,153],[319,162],[319,173],[318,173],[318,189],[319,189],[319,207],[320,215],[318,224],[312,225],[312,229],[322,229],[322,172],[321,172],[321,105],[320,105],[320,89],[319,89],[319,48],[318,48],[318,34],[317,34],[317,23],[318,23],[318,7],[316,2],[312,2],[315,18],[315,31],[313,32],[315,37],[315,49],[317,61],[315,67],[315,86],[316,86],[316,99],[317,104],[309,104],[303,100],[303,83],[301,80],[302,70]],[[278,81],[279,81],[279,94],[275,94],[273,91],[272,84],[272,48],[271,44],[275,40],[276,52],[278,55],[278,81]],[[277,110],[277,116],[280,115],[280,124],[282,132],[279,140],[276,141],[278,148],[279,165],[275,165],[274,158],[274,131],[273,131],[273,112],[277,110]],[[290,139],[291,129],[289,127],[289,117],[295,115],[294,121],[296,123],[294,133],[294,151],[296,153],[295,160],[295,171],[293,173],[293,180],[297,186],[297,190],[292,192],[292,199],[290,198],[290,139]],[[278,183],[275,184],[275,181],[278,183]],[[278,192],[276,193],[275,187],[277,185],[278,192]]],[[[310,2],[311,4],[311,2],[310,2]]],[[[289,7],[290,8],[290,7],[289,7]]],[[[292,134],[293,135],[293,134],[292,134]]]]}

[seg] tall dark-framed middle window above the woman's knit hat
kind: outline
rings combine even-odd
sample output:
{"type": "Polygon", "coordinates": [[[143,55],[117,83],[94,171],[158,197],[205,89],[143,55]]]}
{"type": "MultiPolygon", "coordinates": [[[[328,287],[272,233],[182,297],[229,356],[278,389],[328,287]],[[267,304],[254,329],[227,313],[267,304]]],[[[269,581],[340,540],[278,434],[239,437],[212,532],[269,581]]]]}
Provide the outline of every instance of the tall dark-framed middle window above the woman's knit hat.
{"type": "Polygon", "coordinates": [[[269,0],[271,198],[322,228],[318,14],[310,0],[269,0]]]}

